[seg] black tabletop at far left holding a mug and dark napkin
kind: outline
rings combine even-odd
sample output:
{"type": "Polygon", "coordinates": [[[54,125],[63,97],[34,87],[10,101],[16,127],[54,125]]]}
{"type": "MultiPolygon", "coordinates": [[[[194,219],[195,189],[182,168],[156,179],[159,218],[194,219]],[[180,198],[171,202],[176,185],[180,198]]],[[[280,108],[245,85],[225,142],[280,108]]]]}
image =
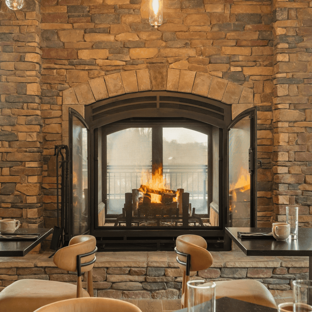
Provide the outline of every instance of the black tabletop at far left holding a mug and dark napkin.
{"type": "Polygon", "coordinates": [[[52,234],[53,229],[17,229],[17,234],[38,233],[40,236],[33,241],[0,241],[0,257],[23,257],[41,241],[52,234]]]}

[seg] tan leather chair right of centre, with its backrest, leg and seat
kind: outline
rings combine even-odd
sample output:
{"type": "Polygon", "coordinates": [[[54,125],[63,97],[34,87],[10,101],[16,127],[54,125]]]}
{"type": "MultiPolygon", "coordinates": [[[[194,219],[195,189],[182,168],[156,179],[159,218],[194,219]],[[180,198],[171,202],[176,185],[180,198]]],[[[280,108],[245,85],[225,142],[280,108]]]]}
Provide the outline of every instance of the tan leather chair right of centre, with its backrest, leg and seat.
{"type": "MultiPolygon", "coordinates": [[[[207,243],[197,235],[181,235],[177,237],[175,252],[178,254],[178,266],[183,270],[182,308],[187,307],[187,281],[190,271],[201,271],[213,263],[212,255],[206,250],[207,243]]],[[[270,291],[257,280],[222,280],[216,283],[216,299],[230,297],[258,305],[275,308],[275,300],[270,291]]]]}

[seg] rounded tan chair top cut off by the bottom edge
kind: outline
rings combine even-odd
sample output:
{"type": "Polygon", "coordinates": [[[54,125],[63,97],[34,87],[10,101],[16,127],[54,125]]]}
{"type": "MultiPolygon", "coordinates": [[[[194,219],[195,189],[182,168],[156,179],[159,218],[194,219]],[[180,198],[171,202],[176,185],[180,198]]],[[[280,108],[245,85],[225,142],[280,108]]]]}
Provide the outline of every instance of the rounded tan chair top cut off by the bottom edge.
{"type": "Polygon", "coordinates": [[[76,298],[45,305],[34,312],[142,312],[132,303],[110,298],[76,298]]]}

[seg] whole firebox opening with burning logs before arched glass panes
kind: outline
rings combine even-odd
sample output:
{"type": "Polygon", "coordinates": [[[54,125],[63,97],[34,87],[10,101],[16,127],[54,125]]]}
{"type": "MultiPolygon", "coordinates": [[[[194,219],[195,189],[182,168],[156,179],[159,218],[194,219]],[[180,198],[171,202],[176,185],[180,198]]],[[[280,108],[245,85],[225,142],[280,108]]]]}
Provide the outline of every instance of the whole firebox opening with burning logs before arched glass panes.
{"type": "Polygon", "coordinates": [[[99,128],[98,228],[218,227],[219,136],[202,123],[99,128]]]}

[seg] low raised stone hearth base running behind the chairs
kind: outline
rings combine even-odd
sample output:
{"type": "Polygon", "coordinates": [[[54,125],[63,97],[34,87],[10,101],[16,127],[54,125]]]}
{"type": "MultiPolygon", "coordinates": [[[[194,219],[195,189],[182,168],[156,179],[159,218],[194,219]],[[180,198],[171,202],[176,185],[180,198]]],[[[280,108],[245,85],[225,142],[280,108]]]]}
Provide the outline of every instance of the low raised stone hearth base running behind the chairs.
{"type": "MultiPolygon", "coordinates": [[[[50,253],[0,258],[0,289],[15,280],[34,278],[76,282],[76,273],[55,267],[50,253]]],[[[191,272],[192,279],[255,279],[275,299],[292,298],[291,281],[308,278],[308,257],[257,257],[242,252],[212,252],[211,268],[191,272]]],[[[97,253],[93,268],[95,296],[116,299],[181,298],[182,271],[174,252],[97,253]]],[[[83,282],[86,287],[86,281],[83,282]]]]}

